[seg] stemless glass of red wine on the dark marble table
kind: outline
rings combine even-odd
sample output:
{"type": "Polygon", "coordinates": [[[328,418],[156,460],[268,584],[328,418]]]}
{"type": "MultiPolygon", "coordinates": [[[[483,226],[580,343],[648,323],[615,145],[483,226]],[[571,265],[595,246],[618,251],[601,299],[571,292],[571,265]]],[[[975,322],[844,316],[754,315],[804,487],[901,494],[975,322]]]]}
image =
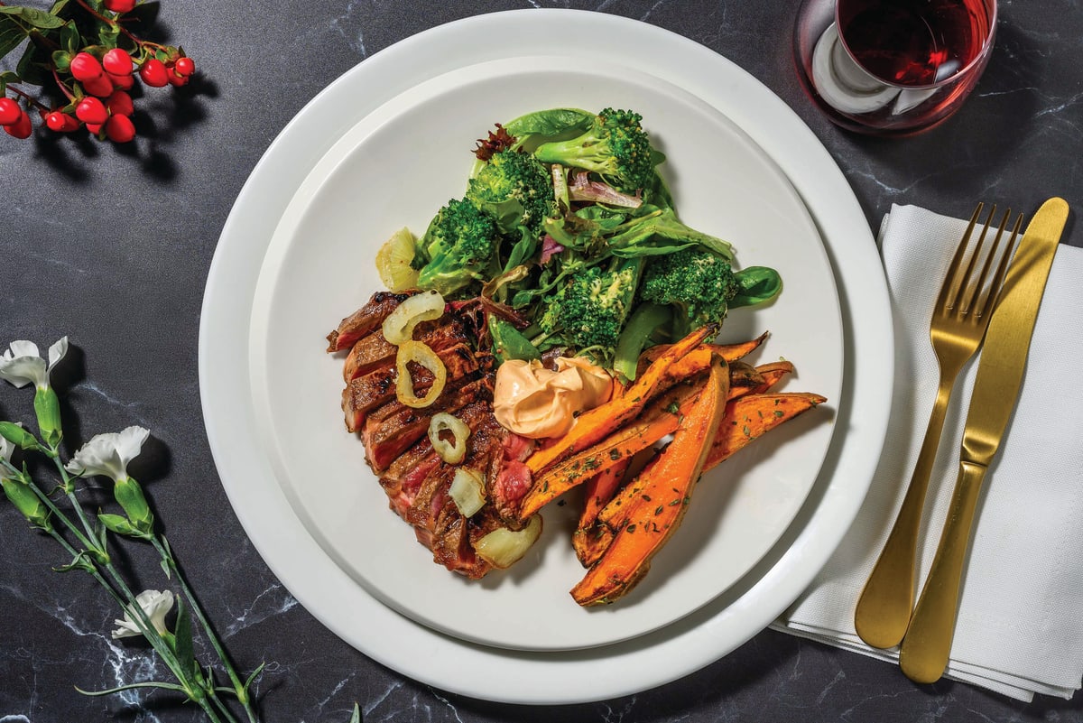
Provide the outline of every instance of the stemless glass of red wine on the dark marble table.
{"type": "Polygon", "coordinates": [[[838,126],[928,130],[958,109],[989,62],[996,0],[804,0],[797,75],[838,126]]]}

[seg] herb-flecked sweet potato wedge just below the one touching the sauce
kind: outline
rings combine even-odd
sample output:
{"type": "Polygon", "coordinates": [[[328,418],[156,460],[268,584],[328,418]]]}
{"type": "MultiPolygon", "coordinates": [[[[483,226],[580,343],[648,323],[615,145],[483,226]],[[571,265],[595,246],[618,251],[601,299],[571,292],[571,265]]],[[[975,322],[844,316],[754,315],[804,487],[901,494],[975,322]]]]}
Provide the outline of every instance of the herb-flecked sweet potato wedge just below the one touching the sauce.
{"type": "Polygon", "coordinates": [[[680,384],[668,390],[648,405],[627,426],[534,475],[531,489],[520,502],[520,520],[529,518],[569,489],[586,483],[618,462],[631,459],[676,432],[681,416],[688,413],[702,387],[701,380],[699,384],[680,384]]]}

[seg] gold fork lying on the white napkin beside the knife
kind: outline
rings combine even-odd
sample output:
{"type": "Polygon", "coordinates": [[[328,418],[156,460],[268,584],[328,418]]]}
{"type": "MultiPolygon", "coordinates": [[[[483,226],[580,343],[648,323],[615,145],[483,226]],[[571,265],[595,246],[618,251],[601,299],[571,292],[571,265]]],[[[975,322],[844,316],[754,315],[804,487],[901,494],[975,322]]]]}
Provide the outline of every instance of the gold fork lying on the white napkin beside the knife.
{"type": "Polygon", "coordinates": [[[898,645],[906,633],[906,626],[910,625],[914,604],[914,566],[918,528],[922,523],[922,510],[925,507],[925,494],[929,486],[929,475],[943,432],[948,399],[963,366],[981,346],[993,304],[1004,282],[1008,261],[1012,259],[1012,250],[1022,226],[1020,214],[1016,219],[1007,245],[1002,249],[1001,240],[1012,215],[1012,209],[1008,209],[996,228],[992,248],[983,252],[982,247],[996,213],[996,206],[993,206],[989,210],[973,252],[968,254],[967,248],[982,208],[983,205],[978,203],[974,215],[970,216],[970,223],[955,250],[932,311],[929,337],[940,364],[937,399],[932,406],[932,413],[902,508],[873,567],[872,575],[865,582],[853,615],[858,635],[873,647],[887,648],[898,645]],[[1000,251],[999,262],[997,251],[1000,251]],[[979,263],[980,272],[976,275],[979,263]],[[995,275],[992,282],[987,285],[994,263],[995,275]]]}

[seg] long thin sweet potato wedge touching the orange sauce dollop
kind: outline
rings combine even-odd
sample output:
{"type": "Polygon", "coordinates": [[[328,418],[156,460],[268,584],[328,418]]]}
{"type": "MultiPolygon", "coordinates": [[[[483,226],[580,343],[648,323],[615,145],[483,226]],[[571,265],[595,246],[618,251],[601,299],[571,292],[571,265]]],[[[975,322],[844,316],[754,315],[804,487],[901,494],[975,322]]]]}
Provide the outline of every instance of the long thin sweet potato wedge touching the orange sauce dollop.
{"type": "MultiPolygon", "coordinates": [[[[536,475],[575,450],[586,449],[604,439],[614,430],[621,429],[628,420],[639,415],[651,396],[657,392],[657,387],[665,380],[669,367],[714,333],[718,333],[717,327],[703,327],[668,346],[617,398],[610,399],[605,404],[584,412],[567,434],[531,455],[526,460],[526,466],[530,468],[531,474],[536,475]]],[[[727,377],[728,381],[729,377],[727,377]]]]}

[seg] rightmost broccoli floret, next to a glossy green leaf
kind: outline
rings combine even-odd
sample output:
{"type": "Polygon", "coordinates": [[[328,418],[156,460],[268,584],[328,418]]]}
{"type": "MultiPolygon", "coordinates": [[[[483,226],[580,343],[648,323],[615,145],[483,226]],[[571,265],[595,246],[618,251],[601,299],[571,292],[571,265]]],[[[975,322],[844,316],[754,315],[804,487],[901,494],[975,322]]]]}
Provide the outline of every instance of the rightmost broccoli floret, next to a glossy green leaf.
{"type": "Polygon", "coordinates": [[[730,262],[702,246],[651,259],[639,294],[643,301],[675,306],[674,334],[721,324],[730,300],[741,290],[730,262]]]}

